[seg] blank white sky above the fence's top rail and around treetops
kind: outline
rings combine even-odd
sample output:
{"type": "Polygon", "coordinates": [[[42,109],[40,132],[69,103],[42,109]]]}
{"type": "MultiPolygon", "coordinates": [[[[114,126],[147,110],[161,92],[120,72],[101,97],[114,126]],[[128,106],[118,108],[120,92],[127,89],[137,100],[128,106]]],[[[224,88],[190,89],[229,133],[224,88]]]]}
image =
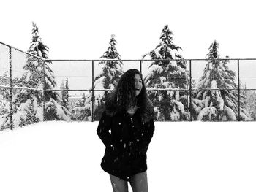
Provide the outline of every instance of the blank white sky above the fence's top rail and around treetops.
{"type": "Polygon", "coordinates": [[[28,50],[31,22],[53,59],[98,59],[111,34],[123,59],[140,59],[167,24],[184,58],[205,58],[216,39],[222,57],[256,58],[254,1],[1,1],[0,42],[28,50]]]}

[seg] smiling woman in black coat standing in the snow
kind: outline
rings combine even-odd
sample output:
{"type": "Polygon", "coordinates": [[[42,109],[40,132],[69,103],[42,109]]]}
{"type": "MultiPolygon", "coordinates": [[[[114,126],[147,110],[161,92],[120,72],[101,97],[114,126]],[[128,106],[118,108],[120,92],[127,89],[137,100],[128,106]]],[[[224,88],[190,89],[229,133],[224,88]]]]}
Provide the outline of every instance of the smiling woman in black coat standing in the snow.
{"type": "Polygon", "coordinates": [[[97,134],[106,149],[102,169],[110,174],[113,191],[148,191],[146,152],[154,133],[154,110],[142,74],[125,72],[105,102],[97,134]]]}

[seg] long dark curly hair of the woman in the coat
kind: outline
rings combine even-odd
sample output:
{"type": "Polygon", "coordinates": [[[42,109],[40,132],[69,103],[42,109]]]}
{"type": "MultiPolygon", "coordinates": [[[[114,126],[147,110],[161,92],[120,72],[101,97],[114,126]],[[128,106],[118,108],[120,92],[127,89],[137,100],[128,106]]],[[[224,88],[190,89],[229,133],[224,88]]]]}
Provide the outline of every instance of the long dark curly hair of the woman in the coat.
{"type": "Polygon", "coordinates": [[[136,105],[140,107],[140,116],[143,122],[147,122],[154,117],[154,109],[143,81],[142,74],[137,69],[129,69],[121,75],[113,92],[105,101],[105,110],[109,115],[116,112],[127,110],[129,106],[136,105]],[[135,74],[139,74],[142,80],[142,88],[140,94],[135,93],[135,74]]]}

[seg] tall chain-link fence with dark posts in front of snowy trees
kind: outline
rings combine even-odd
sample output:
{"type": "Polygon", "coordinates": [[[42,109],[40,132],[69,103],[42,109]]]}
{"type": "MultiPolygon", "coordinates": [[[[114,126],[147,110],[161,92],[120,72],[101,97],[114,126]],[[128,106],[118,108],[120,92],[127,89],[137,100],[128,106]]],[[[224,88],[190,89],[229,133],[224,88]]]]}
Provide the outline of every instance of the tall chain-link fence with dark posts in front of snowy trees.
{"type": "MultiPolygon", "coordinates": [[[[113,89],[102,85],[107,62],[113,60],[45,60],[0,43],[1,129],[43,120],[99,120],[104,96],[113,89]]],[[[182,60],[182,70],[178,61],[169,60],[169,74],[157,71],[157,65],[165,62],[161,60],[120,62],[124,72],[138,69],[148,80],[156,120],[256,120],[256,59],[221,59],[228,68],[220,76],[206,72],[210,62],[206,59],[182,60]],[[210,87],[202,82],[203,75],[210,87]],[[214,87],[218,80],[225,83],[214,87]],[[222,118],[214,116],[211,107],[222,118]],[[213,116],[206,118],[207,112],[213,116]]]]}

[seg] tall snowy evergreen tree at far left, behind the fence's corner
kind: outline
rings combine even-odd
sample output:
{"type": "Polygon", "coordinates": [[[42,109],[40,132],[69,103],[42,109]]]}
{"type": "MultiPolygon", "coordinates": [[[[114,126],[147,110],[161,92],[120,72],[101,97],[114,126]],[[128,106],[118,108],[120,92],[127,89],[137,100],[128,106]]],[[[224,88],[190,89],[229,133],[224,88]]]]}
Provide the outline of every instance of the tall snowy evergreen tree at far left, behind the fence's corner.
{"type": "Polygon", "coordinates": [[[20,79],[14,81],[16,85],[28,88],[14,91],[13,122],[15,126],[26,126],[43,120],[42,91],[30,89],[42,89],[43,84],[45,90],[49,89],[49,91],[45,91],[45,119],[70,120],[68,110],[59,104],[61,101],[59,93],[52,91],[56,82],[53,71],[50,69],[51,61],[41,59],[48,59],[48,47],[39,37],[39,31],[35,23],[33,23],[32,41],[28,53],[32,55],[27,55],[26,65],[23,66],[25,73],[20,79]]]}

